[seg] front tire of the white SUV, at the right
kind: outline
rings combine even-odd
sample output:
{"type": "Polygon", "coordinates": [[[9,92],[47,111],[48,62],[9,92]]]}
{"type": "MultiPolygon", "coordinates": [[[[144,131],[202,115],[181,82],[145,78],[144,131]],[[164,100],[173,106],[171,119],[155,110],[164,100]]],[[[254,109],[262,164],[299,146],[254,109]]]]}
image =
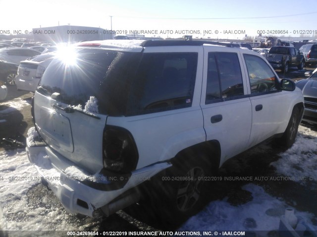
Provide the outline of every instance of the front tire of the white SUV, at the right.
{"type": "Polygon", "coordinates": [[[299,126],[300,121],[300,110],[298,107],[295,107],[293,109],[291,118],[289,119],[288,125],[286,127],[285,132],[283,133],[283,136],[279,138],[279,142],[282,146],[285,148],[290,148],[294,142],[297,135],[297,130],[299,126]]]}

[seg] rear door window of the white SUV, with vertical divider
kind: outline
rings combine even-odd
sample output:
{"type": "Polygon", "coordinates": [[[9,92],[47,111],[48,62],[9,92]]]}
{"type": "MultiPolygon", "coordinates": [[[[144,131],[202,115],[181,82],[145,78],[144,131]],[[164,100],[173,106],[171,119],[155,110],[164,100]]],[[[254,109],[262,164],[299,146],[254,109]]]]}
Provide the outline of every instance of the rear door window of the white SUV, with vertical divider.
{"type": "Polygon", "coordinates": [[[236,53],[208,54],[206,104],[244,95],[239,58],[236,53]]]}

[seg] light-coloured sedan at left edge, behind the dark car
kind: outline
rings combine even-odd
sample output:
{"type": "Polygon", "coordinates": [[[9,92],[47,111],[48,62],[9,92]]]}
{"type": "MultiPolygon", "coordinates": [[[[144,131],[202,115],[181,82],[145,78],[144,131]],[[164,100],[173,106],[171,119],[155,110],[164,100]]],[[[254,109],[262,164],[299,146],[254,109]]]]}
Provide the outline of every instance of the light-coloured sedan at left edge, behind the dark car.
{"type": "Polygon", "coordinates": [[[29,48],[2,48],[0,49],[0,60],[19,64],[21,61],[40,55],[39,51],[29,48]]]}

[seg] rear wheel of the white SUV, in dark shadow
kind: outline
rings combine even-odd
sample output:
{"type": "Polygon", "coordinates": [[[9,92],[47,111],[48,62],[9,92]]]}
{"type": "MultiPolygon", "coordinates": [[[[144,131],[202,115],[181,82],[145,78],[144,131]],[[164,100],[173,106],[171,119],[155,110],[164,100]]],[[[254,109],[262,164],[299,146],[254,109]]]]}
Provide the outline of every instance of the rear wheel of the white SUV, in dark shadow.
{"type": "Polygon", "coordinates": [[[182,154],[174,158],[173,166],[160,177],[162,181],[156,184],[156,206],[152,208],[164,229],[180,225],[208,203],[209,185],[204,177],[212,173],[209,159],[203,153],[182,154]]]}

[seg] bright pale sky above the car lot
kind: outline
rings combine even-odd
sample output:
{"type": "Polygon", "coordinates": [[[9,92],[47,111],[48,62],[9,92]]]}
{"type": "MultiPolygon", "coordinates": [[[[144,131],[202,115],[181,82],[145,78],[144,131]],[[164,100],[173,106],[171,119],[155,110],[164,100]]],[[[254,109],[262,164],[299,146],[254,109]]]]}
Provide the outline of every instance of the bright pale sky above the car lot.
{"type": "MultiPolygon", "coordinates": [[[[277,36],[293,37],[299,37],[300,30],[312,30],[312,34],[306,34],[310,36],[317,32],[316,0],[14,0],[12,3],[0,0],[0,30],[24,31],[58,23],[110,29],[112,16],[113,30],[169,31],[174,33],[170,37],[177,37],[176,31],[186,30],[199,32],[194,34],[198,38],[213,37],[218,30],[218,37],[231,39],[257,36],[258,30],[285,30],[287,33],[277,36]],[[213,35],[204,36],[204,30],[213,35]],[[224,31],[228,34],[224,35],[224,31]],[[241,32],[234,34],[234,31],[241,32]]],[[[167,37],[167,34],[156,36],[167,37]]]]}

